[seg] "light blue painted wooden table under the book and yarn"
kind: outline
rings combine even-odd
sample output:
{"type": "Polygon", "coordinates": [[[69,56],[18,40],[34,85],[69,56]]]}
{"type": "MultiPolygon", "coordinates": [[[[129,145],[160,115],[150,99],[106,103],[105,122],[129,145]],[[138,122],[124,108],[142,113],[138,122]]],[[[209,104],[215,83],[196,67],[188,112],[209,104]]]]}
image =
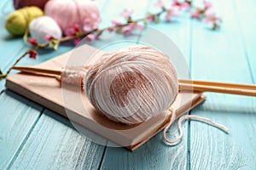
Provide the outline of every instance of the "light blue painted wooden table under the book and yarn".
{"type": "MultiPolygon", "coordinates": [[[[1,1],[0,67],[3,71],[28,48],[21,38],[4,29],[11,1],[1,1]]],[[[155,1],[99,0],[102,26],[118,18],[123,8],[142,17],[155,1]]],[[[151,24],[170,37],[189,63],[194,79],[255,83],[256,1],[215,0],[223,19],[218,31],[182,14],[173,23],[151,24]]],[[[137,35],[137,40],[145,36],[137,35]]],[[[93,46],[116,36],[103,35],[93,46]]],[[[57,51],[41,51],[38,59],[19,65],[36,65],[72,49],[64,44],[57,51]]],[[[0,81],[0,169],[256,169],[256,99],[207,93],[207,101],[189,114],[207,116],[230,129],[225,134],[200,122],[186,122],[183,140],[167,146],[161,134],[131,152],[92,143],[64,117],[4,87],[0,81]]],[[[171,130],[172,132],[172,130],[171,130]]],[[[177,131],[173,131],[177,132],[177,131]]],[[[175,138],[177,133],[172,134],[175,138]]]]}

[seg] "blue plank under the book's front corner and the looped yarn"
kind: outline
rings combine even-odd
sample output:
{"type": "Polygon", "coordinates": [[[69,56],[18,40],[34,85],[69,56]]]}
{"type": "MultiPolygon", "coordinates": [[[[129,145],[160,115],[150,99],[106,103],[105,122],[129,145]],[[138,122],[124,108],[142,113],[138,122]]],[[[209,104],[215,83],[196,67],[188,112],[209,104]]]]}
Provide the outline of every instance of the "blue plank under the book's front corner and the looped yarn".
{"type": "MultiPolygon", "coordinates": [[[[148,10],[153,8],[155,1],[148,3],[148,10]]],[[[138,5],[138,4],[137,4],[138,5]]],[[[143,10],[142,8],[139,10],[143,10]]],[[[135,9],[136,11],[136,9],[135,9]]],[[[150,24],[170,37],[177,43],[178,48],[183,51],[186,59],[189,60],[189,18],[184,15],[177,19],[177,22],[166,24],[150,24]]],[[[154,38],[154,35],[147,35],[143,31],[141,39],[154,38]]],[[[184,123],[184,135],[181,144],[177,147],[168,146],[162,139],[162,133],[157,134],[146,144],[134,152],[122,148],[108,147],[102,161],[102,169],[186,169],[187,167],[187,123],[184,123]]],[[[173,126],[168,133],[168,137],[175,139],[177,137],[177,127],[173,126]]]]}

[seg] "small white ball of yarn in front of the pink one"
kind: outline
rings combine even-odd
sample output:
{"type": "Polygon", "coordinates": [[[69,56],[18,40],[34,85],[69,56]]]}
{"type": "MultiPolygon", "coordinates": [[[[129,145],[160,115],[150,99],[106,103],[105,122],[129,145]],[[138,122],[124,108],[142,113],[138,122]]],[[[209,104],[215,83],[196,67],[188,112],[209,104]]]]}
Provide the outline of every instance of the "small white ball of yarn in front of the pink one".
{"type": "Polygon", "coordinates": [[[41,16],[32,20],[29,25],[31,37],[36,38],[38,43],[47,42],[46,36],[60,39],[62,36],[61,28],[57,25],[55,20],[49,16],[41,16]]]}

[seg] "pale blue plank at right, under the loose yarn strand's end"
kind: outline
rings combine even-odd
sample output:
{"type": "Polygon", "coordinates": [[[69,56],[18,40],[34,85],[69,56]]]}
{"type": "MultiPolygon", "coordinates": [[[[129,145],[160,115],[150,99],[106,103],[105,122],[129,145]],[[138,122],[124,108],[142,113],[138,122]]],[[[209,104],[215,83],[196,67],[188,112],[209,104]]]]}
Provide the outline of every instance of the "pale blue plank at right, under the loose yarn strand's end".
{"type": "MultiPolygon", "coordinates": [[[[216,0],[214,6],[224,20],[221,30],[212,32],[193,22],[192,77],[252,83],[240,23],[236,20],[239,11],[231,0],[216,0]]],[[[226,125],[230,134],[190,122],[190,169],[255,169],[255,110],[253,97],[207,94],[204,105],[191,114],[226,125]]]]}

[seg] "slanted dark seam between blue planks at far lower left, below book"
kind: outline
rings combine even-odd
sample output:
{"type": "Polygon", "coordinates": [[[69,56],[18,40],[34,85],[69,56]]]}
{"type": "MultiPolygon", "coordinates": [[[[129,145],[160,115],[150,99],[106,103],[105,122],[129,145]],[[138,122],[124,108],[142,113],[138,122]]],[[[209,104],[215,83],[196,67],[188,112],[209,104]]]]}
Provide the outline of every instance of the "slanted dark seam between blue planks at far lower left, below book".
{"type": "Polygon", "coordinates": [[[30,135],[32,134],[33,129],[36,127],[36,125],[38,124],[38,121],[40,119],[40,117],[43,115],[45,108],[43,108],[42,111],[40,111],[40,115],[38,116],[38,118],[36,119],[36,121],[32,124],[31,129],[28,131],[28,133],[26,134],[26,138],[21,142],[20,147],[18,148],[18,150],[15,152],[15,156],[13,156],[13,158],[11,159],[11,161],[9,162],[9,166],[7,167],[7,169],[10,169],[10,167],[13,166],[13,164],[15,163],[15,160],[17,159],[17,157],[20,155],[20,151],[23,149],[23,147],[26,144],[26,141],[29,139],[30,135]]]}

